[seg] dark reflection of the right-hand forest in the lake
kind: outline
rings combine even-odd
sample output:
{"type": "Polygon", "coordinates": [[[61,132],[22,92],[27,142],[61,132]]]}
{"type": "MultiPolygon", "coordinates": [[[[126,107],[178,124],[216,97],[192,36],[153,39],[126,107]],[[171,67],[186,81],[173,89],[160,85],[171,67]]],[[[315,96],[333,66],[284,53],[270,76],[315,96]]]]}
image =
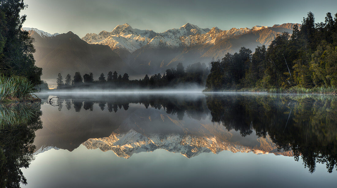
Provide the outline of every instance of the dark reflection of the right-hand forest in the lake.
{"type": "Polygon", "coordinates": [[[337,167],[337,101],[335,96],[231,96],[207,97],[212,120],[242,136],[255,130],[267,134],[278,149],[292,150],[295,160],[315,171],[316,163],[326,163],[328,172],[337,167]]]}

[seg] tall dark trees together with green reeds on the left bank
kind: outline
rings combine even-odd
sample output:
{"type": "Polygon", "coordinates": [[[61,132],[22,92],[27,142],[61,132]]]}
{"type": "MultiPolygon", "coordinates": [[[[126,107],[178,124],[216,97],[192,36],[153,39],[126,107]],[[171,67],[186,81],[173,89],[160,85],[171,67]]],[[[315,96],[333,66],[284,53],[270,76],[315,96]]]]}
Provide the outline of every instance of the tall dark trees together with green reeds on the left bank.
{"type": "Polygon", "coordinates": [[[23,0],[0,1],[0,102],[32,101],[42,69],[35,65],[34,38],[22,30],[27,8],[23,0]]]}

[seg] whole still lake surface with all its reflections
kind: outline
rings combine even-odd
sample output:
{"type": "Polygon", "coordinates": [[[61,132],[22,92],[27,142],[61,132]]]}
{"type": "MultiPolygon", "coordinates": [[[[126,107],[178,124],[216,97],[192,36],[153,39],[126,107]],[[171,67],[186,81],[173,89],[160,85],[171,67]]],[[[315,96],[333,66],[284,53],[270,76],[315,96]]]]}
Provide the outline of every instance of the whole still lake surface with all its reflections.
{"type": "Polygon", "coordinates": [[[337,186],[333,95],[39,97],[0,106],[7,187],[337,186]]]}

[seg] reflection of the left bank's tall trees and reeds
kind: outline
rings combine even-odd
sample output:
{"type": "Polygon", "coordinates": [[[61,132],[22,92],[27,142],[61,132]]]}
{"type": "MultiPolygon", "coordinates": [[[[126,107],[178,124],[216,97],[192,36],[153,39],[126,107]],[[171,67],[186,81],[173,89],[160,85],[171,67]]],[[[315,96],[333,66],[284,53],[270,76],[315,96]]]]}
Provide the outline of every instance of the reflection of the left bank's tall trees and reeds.
{"type": "Polygon", "coordinates": [[[0,186],[27,184],[21,168],[34,159],[35,131],[42,128],[38,104],[0,104],[0,186]]]}

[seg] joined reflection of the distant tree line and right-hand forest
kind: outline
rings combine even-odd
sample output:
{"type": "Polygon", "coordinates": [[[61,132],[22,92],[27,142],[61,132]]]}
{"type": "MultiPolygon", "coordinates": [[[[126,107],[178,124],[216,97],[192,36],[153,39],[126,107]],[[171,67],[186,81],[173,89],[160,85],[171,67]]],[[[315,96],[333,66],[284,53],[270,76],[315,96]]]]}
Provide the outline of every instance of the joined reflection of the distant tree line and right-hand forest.
{"type": "MultiPolygon", "coordinates": [[[[93,110],[117,112],[128,110],[129,104],[145,108],[163,108],[167,114],[183,120],[187,115],[200,120],[211,114],[212,121],[226,129],[239,131],[245,137],[256,133],[269,136],[279,150],[293,150],[295,160],[303,159],[309,172],[316,163],[325,163],[331,173],[337,167],[337,97],[333,95],[206,95],[202,98],[174,96],[114,96],[106,100],[65,100],[76,112],[82,106],[93,110]]],[[[67,107],[69,110],[70,108],[67,107]]]]}

